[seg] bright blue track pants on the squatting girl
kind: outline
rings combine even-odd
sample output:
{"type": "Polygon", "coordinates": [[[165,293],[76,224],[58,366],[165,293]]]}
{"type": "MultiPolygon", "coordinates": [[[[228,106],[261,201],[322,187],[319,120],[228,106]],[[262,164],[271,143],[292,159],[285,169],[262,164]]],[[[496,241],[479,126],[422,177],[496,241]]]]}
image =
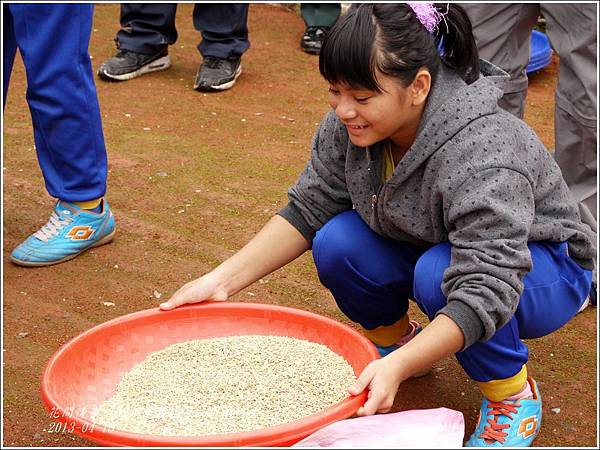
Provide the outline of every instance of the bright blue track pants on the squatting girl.
{"type": "MultiPolygon", "coordinates": [[[[366,329],[391,325],[416,300],[430,320],[446,305],[441,283],[450,265],[449,243],[428,249],[394,241],[372,231],[355,211],[331,219],[313,240],[313,257],[321,282],[338,306],[366,329]]],[[[456,354],[475,381],[501,380],[527,362],[521,339],[549,334],[579,310],[591,285],[591,271],[566,254],[566,244],[531,242],[533,269],[513,318],[487,342],[456,354]]]]}

